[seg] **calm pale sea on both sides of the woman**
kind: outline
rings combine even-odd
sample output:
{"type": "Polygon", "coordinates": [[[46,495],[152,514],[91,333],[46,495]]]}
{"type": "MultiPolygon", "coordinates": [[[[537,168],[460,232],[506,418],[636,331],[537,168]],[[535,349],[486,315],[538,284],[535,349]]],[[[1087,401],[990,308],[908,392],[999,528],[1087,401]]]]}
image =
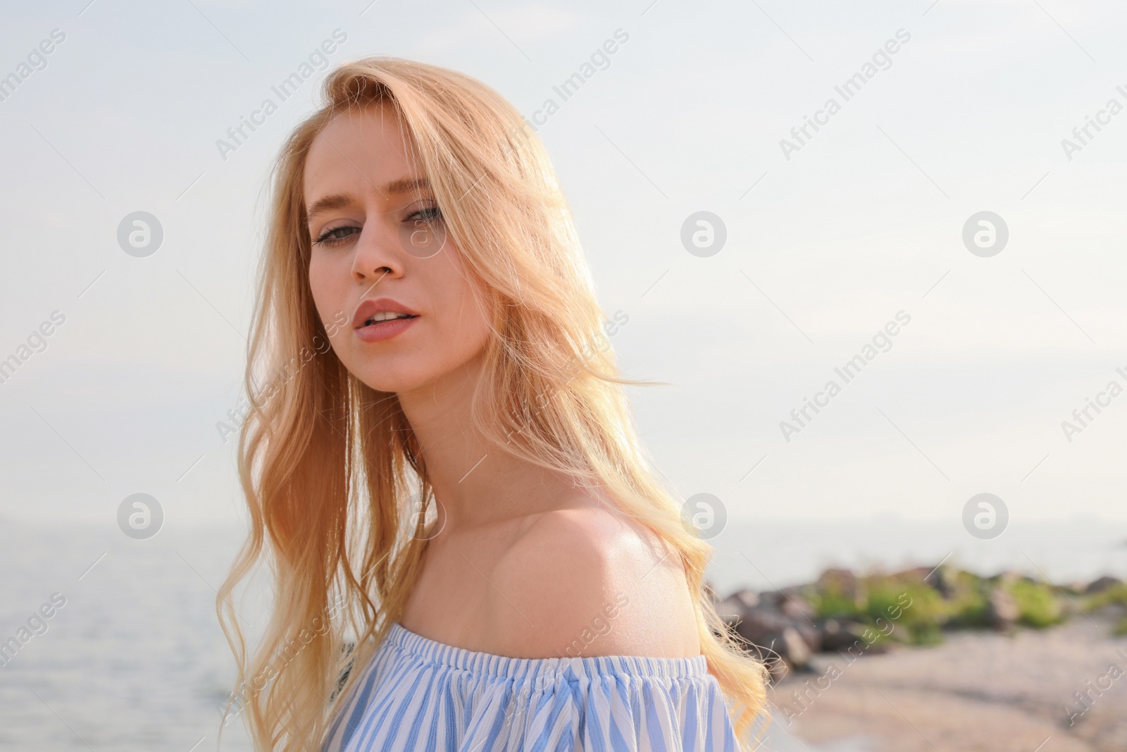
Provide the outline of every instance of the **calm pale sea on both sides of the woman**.
{"type": "MultiPolygon", "coordinates": [[[[16,636],[53,594],[65,598],[43,621],[46,630],[34,625],[43,634],[0,667],[0,751],[216,749],[216,706],[233,670],[213,587],[240,539],[216,528],[171,527],[137,541],[116,528],[0,520],[0,639],[16,636]]],[[[721,592],[781,586],[827,565],[934,564],[948,554],[987,573],[1035,570],[1031,559],[1061,581],[1125,576],[1125,540],[1127,523],[1077,520],[1013,525],[994,541],[974,541],[957,523],[733,522],[712,541],[711,580],[721,592]]],[[[263,623],[260,608],[241,610],[263,623]]],[[[765,746],[808,749],[783,736],[765,746]]],[[[250,749],[238,723],[219,749],[250,749]]],[[[833,749],[867,745],[844,740],[833,749]]]]}

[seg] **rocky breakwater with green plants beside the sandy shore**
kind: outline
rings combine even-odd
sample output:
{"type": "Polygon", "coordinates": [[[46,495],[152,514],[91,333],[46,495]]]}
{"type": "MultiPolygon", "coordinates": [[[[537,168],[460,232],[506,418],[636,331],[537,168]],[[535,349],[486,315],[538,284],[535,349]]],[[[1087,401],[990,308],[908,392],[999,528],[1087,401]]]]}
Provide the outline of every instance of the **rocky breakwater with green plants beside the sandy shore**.
{"type": "Polygon", "coordinates": [[[819,653],[852,663],[896,646],[938,645],[957,630],[1012,634],[1093,611],[1127,634],[1127,584],[1110,576],[1057,587],[1003,572],[980,576],[953,566],[858,574],[827,569],[817,581],[774,591],[713,594],[717,612],[774,681],[813,672],[819,653]]]}

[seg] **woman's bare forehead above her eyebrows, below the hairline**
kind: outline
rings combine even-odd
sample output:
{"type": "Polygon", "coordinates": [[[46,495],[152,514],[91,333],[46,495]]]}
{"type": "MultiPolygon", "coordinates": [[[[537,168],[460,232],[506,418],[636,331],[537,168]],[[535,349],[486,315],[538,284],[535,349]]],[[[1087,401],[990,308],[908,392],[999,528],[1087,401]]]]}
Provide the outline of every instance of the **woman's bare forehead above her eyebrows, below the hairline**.
{"type": "Polygon", "coordinates": [[[418,177],[417,165],[409,138],[390,105],[341,113],[309,147],[303,175],[305,205],[328,193],[363,194],[392,180],[418,177]]]}

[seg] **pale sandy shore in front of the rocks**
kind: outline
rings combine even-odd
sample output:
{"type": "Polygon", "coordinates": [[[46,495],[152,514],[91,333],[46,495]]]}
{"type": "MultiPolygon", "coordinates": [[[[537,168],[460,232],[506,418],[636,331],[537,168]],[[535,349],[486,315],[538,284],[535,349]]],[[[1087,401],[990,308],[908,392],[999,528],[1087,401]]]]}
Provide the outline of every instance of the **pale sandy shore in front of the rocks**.
{"type": "Polygon", "coordinates": [[[814,667],[773,688],[771,736],[873,752],[1127,750],[1127,638],[1107,619],[955,632],[852,663],[823,654],[814,667]]]}

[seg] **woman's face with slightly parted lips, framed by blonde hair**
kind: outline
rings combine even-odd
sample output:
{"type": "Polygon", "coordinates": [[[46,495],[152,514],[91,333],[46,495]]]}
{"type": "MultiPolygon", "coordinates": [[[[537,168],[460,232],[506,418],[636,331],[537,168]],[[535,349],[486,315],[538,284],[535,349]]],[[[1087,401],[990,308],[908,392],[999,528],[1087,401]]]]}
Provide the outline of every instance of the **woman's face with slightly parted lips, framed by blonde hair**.
{"type": "Polygon", "coordinates": [[[485,297],[467,277],[394,113],[332,120],[305,158],[309,284],[332,350],[381,391],[463,369],[488,336],[485,297]]]}

